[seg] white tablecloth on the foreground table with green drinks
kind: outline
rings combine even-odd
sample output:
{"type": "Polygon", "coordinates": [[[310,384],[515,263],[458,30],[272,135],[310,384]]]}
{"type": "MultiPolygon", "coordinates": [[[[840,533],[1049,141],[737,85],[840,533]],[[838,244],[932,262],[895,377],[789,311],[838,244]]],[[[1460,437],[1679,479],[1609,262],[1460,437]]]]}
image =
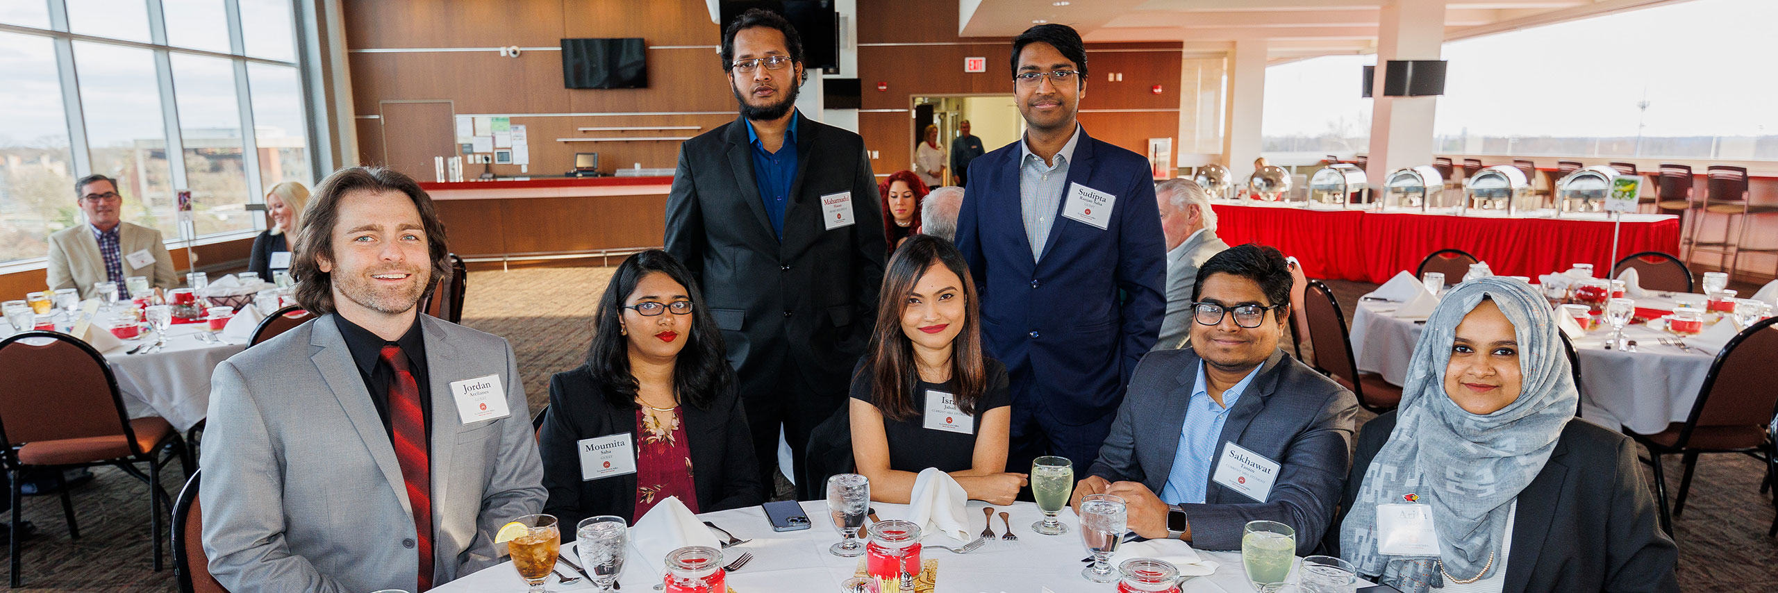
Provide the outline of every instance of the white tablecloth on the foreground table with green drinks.
{"type": "MultiPolygon", "coordinates": [[[[987,502],[971,501],[969,517],[973,520],[971,533],[981,527],[980,508],[987,502]]],[[[873,502],[877,508],[877,517],[880,518],[907,518],[905,504],[884,504],[873,502]]],[[[740,547],[724,550],[725,559],[733,559],[741,554],[741,550],[754,552],[754,559],[729,573],[729,586],[738,593],[834,593],[839,591],[839,582],[850,579],[857,570],[859,557],[836,557],[827,552],[830,545],[839,542],[839,529],[834,529],[832,520],[827,517],[825,501],[802,502],[804,511],[813,520],[814,527],[804,531],[773,533],[772,526],[766,524],[765,511],[757,506],[743,510],[729,510],[717,513],[704,513],[706,518],[722,529],[734,533],[736,538],[752,540],[740,547]]],[[[1037,504],[1019,502],[1013,506],[1001,508],[1012,513],[1012,527],[1019,536],[1017,542],[994,540],[983,549],[971,554],[951,554],[944,550],[928,549],[921,557],[939,559],[939,593],[1038,593],[1049,588],[1054,593],[1070,591],[1115,591],[1117,584],[1099,584],[1081,579],[1079,572],[1086,557],[1086,549],[1081,545],[1079,518],[1074,511],[1063,510],[1061,520],[1069,524],[1069,533],[1061,536],[1044,536],[1031,531],[1031,522],[1042,518],[1037,504]]],[[[1005,524],[996,513],[994,533],[1005,531],[1005,524]]],[[[951,540],[944,534],[930,534],[923,540],[925,543],[937,545],[960,545],[962,542],[951,540]]],[[[564,545],[562,554],[573,554],[571,547],[564,545]]],[[[1207,559],[1218,561],[1221,566],[1216,573],[1207,577],[1197,577],[1184,582],[1182,593],[1250,593],[1253,588],[1246,582],[1246,573],[1241,570],[1239,552],[1209,552],[1198,550],[1198,554],[1207,559]]],[[[576,557],[578,565],[580,559],[576,557]]],[[[574,575],[565,565],[562,572],[574,575]]],[[[1296,582],[1294,570],[1289,575],[1291,582],[1296,582]]],[[[631,547],[631,557],[624,561],[624,572],[619,575],[621,591],[651,593],[654,584],[661,582],[661,575],[647,568],[645,563],[635,559],[635,547],[631,547]]],[[[581,579],[580,582],[562,586],[557,577],[549,577],[548,588],[551,591],[585,591],[594,589],[592,582],[581,579]]],[[[432,589],[436,593],[494,593],[494,591],[525,591],[525,581],[519,579],[517,570],[512,563],[503,563],[491,566],[487,570],[466,575],[444,586],[432,589]]]]}

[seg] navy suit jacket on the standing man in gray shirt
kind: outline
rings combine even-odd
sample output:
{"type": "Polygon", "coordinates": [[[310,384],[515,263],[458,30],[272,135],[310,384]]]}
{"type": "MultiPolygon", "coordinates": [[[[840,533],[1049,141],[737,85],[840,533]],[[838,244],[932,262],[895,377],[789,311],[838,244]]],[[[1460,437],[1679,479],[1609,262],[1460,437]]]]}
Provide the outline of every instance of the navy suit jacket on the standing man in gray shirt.
{"type": "Polygon", "coordinates": [[[1049,243],[1033,263],[1019,201],[1019,142],[969,163],[957,218],[957,247],[981,293],[983,341],[1006,364],[1013,403],[1040,401],[1076,426],[1117,410],[1166,314],[1166,238],[1149,160],[1093,140],[1085,128],[1079,135],[1060,206],[1076,185],[1111,194],[1106,229],[1061,217],[1058,208],[1049,243]]]}

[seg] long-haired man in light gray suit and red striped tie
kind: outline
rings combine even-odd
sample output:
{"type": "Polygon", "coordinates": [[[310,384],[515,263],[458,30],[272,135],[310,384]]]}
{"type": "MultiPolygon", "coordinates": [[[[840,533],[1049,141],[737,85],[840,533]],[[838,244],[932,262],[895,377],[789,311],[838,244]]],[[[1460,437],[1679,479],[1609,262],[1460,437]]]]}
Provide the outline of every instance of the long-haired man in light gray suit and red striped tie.
{"type": "Polygon", "coordinates": [[[203,542],[231,591],[425,591],[498,563],[546,492],[512,348],[418,314],[448,273],[412,179],[341,169],[297,231],[320,314],[212,376],[203,542]]]}

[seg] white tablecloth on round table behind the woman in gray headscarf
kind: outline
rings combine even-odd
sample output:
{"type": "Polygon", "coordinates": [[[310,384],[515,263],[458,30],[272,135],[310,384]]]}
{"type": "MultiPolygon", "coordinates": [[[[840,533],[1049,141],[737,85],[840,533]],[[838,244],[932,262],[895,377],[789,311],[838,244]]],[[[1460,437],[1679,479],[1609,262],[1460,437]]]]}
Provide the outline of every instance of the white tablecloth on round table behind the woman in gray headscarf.
{"type": "MultiPolygon", "coordinates": [[[[1671,311],[1673,300],[1650,296],[1638,298],[1636,305],[1671,311]]],[[[1392,314],[1396,307],[1399,304],[1358,302],[1351,316],[1351,348],[1358,371],[1378,373],[1390,383],[1405,385],[1408,360],[1424,325],[1398,320],[1392,314]]],[[[1668,423],[1684,423],[1716,357],[1664,346],[1659,337],[1671,334],[1646,325],[1623,328],[1623,337],[1634,339],[1638,352],[1606,350],[1611,327],[1604,323],[1574,341],[1581,360],[1582,417],[1606,428],[1627,426],[1645,435],[1666,430],[1668,423]]]]}

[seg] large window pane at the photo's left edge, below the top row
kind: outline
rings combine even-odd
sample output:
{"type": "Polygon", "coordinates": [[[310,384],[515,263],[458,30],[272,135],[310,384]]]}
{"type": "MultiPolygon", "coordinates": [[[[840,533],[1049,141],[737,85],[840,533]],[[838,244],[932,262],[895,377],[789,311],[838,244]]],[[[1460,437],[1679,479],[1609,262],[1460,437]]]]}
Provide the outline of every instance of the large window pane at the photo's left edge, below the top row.
{"type": "Polygon", "coordinates": [[[43,257],[75,224],[75,176],[55,46],[0,34],[0,263],[43,257]]]}

